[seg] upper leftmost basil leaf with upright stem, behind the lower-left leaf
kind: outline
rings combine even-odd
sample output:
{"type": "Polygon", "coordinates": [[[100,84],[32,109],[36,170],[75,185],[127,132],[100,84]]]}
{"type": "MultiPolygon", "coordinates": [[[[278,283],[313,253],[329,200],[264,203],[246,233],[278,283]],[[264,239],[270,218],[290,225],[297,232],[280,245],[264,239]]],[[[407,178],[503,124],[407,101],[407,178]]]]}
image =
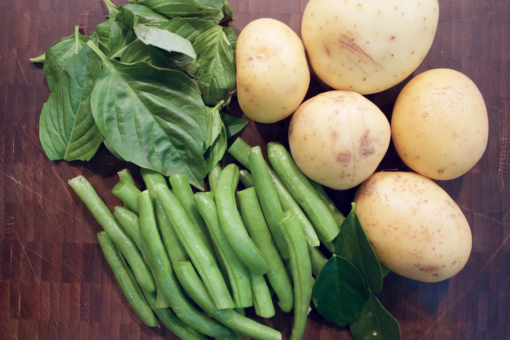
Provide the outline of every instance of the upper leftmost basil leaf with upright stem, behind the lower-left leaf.
{"type": "Polygon", "coordinates": [[[79,26],[74,27],[74,34],[64,37],[48,47],[45,54],[43,72],[50,91],[55,90],[62,72],[73,55],[77,55],[80,49],[90,39],[79,33],[79,26]]]}

